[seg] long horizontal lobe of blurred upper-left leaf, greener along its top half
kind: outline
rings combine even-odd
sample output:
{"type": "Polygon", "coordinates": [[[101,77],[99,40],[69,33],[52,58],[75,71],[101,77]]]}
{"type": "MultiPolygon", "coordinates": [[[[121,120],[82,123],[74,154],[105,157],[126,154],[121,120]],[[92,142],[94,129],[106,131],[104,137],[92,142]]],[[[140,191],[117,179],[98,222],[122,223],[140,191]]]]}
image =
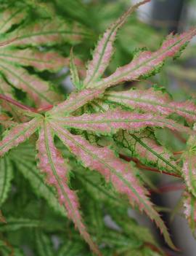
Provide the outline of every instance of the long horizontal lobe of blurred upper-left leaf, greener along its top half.
{"type": "Polygon", "coordinates": [[[29,26],[21,26],[17,30],[9,33],[6,39],[15,39],[12,45],[38,46],[41,44],[53,45],[63,42],[71,44],[81,42],[83,37],[90,35],[77,23],[68,24],[60,18],[51,20],[41,20],[30,23],[29,26]]]}

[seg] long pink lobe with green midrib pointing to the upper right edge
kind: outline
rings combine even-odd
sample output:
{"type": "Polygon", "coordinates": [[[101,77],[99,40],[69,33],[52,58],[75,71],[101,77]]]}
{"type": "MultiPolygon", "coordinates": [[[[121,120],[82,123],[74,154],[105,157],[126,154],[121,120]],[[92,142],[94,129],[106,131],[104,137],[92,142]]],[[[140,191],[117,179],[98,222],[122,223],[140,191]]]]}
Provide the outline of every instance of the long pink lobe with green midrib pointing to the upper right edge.
{"type": "Polygon", "coordinates": [[[163,65],[167,57],[172,57],[181,50],[184,44],[196,35],[196,28],[192,28],[180,35],[167,36],[166,41],[155,53],[144,51],[137,55],[131,63],[121,66],[109,77],[100,79],[98,82],[89,84],[86,88],[109,88],[120,82],[133,81],[142,76],[150,76],[156,69],[163,65]]]}

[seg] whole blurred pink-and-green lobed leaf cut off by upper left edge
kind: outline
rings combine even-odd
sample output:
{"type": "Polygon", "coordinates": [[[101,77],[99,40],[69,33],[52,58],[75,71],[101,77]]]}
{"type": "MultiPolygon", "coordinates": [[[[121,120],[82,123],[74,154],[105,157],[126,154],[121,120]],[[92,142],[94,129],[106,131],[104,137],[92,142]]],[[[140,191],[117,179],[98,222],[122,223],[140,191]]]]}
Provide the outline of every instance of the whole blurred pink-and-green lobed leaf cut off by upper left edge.
{"type": "Polygon", "coordinates": [[[25,11],[25,8],[23,12],[21,9],[12,8],[1,12],[0,71],[11,85],[27,93],[37,106],[54,104],[60,101],[60,96],[54,92],[52,85],[36,75],[29,74],[23,66],[53,72],[68,66],[68,58],[42,50],[40,45],[77,43],[87,33],[77,24],[65,23],[60,18],[37,19],[34,23],[20,24],[9,32],[12,25],[25,19],[25,11]]]}

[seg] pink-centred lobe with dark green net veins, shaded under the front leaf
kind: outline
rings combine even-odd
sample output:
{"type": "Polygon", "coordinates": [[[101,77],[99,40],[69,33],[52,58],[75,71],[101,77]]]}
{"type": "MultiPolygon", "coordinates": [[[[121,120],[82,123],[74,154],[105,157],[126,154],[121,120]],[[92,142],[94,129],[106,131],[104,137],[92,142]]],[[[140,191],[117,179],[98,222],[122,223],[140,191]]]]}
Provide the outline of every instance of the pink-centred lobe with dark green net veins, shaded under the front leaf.
{"type": "Polygon", "coordinates": [[[179,173],[179,166],[173,160],[172,153],[156,142],[152,131],[145,130],[139,133],[119,131],[115,134],[114,139],[130,150],[131,155],[139,158],[142,163],[158,167],[169,173],[179,173]]]}

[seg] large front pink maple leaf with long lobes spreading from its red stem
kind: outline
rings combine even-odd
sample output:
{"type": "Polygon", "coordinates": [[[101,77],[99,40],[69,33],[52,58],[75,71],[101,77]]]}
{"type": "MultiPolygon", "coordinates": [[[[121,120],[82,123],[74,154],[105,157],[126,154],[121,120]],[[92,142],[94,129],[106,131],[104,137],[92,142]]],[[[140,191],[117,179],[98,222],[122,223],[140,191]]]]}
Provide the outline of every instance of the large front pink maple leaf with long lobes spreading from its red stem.
{"type": "Polygon", "coordinates": [[[132,206],[138,206],[146,212],[160,228],[161,232],[173,247],[168,231],[147,197],[147,190],[142,187],[134,175],[129,163],[118,158],[107,147],[92,145],[82,136],[70,132],[70,128],[93,131],[97,134],[113,134],[119,129],[139,131],[147,126],[167,127],[175,131],[192,134],[190,128],[177,124],[173,120],[151,114],[136,114],[121,109],[104,112],[102,114],[84,114],[73,116],[76,109],[96,98],[103,90],[86,89],[79,93],[71,93],[70,97],[45,112],[44,115],[25,112],[25,115],[34,116],[26,123],[15,125],[9,130],[0,142],[0,155],[4,155],[12,147],[27,140],[36,131],[39,138],[36,144],[38,150],[38,167],[46,174],[46,182],[56,187],[60,203],[68,211],[68,216],[73,220],[83,238],[89,243],[91,249],[100,255],[96,245],[86,231],[80,212],[78,198],[68,186],[69,165],[54,144],[54,135],[65,144],[70,152],[81,161],[83,166],[97,170],[108,182],[111,182],[119,193],[127,195],[132,206]]]}

